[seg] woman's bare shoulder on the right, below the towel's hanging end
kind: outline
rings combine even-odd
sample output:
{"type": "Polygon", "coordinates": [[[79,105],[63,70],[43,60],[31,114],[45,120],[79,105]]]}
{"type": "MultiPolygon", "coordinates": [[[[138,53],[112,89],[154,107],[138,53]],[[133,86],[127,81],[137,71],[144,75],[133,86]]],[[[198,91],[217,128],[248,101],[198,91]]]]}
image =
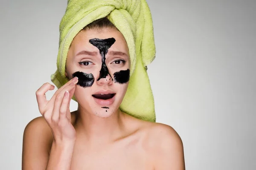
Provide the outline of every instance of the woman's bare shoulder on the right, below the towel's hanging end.
{"type": "Polygon", "coordinates": [[[144,123],[144,146],[155,170],[185,170],[183,142],[174,128],[162,123],[144,123]]]}

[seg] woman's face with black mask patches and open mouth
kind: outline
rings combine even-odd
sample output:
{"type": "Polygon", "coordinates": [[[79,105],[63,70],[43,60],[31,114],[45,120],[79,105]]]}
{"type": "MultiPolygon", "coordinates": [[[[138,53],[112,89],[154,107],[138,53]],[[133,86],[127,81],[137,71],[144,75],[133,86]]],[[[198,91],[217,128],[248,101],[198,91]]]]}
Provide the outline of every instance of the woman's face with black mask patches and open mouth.
{"type": "Polygon", "coordinates": [[[82,30],[67,55],[66,76],[78,77],[79,107],[99,117],[111,116],[125,96],[130,77],[128,46],[116,28],[82,30]]]}

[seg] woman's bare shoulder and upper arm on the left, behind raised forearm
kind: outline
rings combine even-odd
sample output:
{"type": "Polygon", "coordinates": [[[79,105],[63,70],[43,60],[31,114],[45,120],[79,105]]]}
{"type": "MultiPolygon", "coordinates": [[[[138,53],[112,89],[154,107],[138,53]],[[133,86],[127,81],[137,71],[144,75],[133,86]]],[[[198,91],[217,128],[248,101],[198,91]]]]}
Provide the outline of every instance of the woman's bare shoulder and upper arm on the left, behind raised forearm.
{"type": "MultiPolygon", "coordinates": [[[[74,113],[72,113],[72,120],[74,118],[74,113]]],[[[22,169],[45,169],[52,141],[52,131],[44,117],[40,116],[31,120],[23,133],[22,169]]]]}

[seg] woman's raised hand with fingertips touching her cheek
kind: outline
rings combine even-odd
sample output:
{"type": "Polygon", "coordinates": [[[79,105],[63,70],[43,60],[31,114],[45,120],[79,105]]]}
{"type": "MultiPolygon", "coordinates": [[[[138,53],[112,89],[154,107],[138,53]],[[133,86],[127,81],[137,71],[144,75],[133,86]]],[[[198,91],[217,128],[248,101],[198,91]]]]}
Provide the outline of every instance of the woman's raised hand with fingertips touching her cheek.
{"type": "Polygon", "coordinates": [[[59,88],[48,101],[45,93],[54,86],[45,83],[36,91],[38,108],[52,130],[56,144],[74,143],[76,130],[71,124],[70,100],[75,92],[78,78],[75,77],[59,88]]]}

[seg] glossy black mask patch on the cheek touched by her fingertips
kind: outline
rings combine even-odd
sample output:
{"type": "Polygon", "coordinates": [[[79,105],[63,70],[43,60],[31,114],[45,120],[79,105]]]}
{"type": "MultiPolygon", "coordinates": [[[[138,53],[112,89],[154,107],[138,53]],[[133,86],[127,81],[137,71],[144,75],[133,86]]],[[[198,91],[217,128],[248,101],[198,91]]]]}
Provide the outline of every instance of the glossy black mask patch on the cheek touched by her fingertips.
{"type": "Polygon", "coordinates": [[[80,71],[76,71],[72,74],[73,77],[78,77],[77,85],[80,85],[83,88],[91,87],[94,82],[93,74],[86,74],[80,71]]]}

